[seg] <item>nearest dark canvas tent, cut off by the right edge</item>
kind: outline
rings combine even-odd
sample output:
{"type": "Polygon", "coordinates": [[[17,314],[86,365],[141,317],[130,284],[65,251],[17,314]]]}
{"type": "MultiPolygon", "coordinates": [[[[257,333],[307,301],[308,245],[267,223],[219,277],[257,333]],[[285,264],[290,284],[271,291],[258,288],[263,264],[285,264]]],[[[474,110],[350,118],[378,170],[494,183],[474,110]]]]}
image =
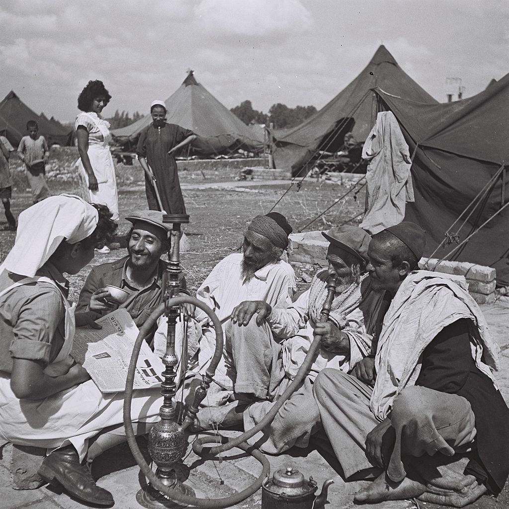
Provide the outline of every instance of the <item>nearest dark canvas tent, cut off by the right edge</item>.
{"type": "MultiPolygon", "coordinates": [[[[405,219],[426,230],[426,254],[446,234],[462,242],[492,218],[446,259],[494,267],[497,284],[509,285],[509,206],[499,212],[509,202],[509,74],[484,92],[453,103],[422,104],[376,93],[398,119],[410,153],[415,152],[415,203],[407,204],[405,219]]],[[[459,246],[454,240],[444,244],[435,258],[459,246]]]]}

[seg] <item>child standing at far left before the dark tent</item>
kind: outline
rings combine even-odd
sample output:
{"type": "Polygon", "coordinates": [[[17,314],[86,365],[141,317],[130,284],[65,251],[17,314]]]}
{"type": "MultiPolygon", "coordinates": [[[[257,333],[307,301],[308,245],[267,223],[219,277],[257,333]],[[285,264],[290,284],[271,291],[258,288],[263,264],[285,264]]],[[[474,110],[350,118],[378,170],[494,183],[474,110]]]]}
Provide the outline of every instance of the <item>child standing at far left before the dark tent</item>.
{"type": "Polygon", "coordinates": [[[45,164],[48,162],[49,149],[44,136],[39,136],[39,126],[35,120],[26,123],[28,136],[23,136],[19,142],[19,158],[26,165],[26,177],[32,190],[34,204],[51,196],[44,179],[45,164]]]}

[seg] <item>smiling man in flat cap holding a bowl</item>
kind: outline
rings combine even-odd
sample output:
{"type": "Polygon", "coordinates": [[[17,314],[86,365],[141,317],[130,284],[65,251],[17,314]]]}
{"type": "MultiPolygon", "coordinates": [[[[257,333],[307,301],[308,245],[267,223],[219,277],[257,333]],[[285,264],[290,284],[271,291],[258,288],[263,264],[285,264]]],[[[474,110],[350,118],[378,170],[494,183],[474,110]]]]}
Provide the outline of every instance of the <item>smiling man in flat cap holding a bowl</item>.
{"type": "MultiPolygon", "coordinates": [[[[127,256],[91,270],[79,294],[77,309],[96,312],[99,317],[125,307],[140,327],[162,301],[162,277],[167,263],[161,256],[169,249],[172,225],[164,223],[163,213],[157,210],[135,211],[126,219],[132,223],[126,235],[127,256]],[[106,285],[122,288],[130,295],[123,304],[115,304],[106,285]]],[[[187,293],[185,279],[181,287],[187,293]]]]}

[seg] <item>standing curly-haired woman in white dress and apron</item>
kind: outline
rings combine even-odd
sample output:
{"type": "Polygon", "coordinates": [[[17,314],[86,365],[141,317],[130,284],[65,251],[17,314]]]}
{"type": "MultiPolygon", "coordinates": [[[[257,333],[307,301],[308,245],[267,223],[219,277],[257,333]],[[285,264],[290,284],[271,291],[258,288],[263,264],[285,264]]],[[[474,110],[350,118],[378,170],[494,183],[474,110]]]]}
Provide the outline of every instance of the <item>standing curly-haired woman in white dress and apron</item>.
{"type": "MultiPolygon", "coordinates": [[[[79,175],[88,190],[88,201],[107,205],[114,221],[119,220],[119,198],[115,166],[109,151],[109,122],[101,118],[111,96],[100,80],[89,81],[78,97],[81,113],[75,122],[79,175]]],[[[109,247],[98,249],[109,252],[109,247]]]]}

